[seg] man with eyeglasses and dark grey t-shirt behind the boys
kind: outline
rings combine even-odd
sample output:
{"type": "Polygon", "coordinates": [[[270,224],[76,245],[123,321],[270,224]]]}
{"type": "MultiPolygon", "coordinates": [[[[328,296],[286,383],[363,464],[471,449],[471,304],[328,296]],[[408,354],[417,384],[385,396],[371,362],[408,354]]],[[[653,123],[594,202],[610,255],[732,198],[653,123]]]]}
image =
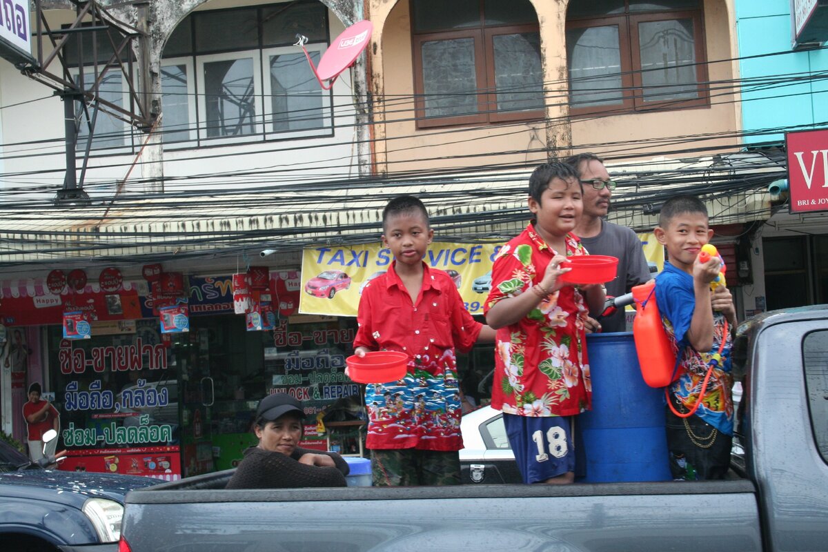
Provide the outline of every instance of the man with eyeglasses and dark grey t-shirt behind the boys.
{"type": "MultiPolygon", "coordinates": [[[[592,255],[618,257],[618,274],[606,283],[607,296],[618,297],[650,279],[647,259],[638,236],[629,228],[609,223],[609,199],[615,182],[609,179],[604,161],[594,153],[571,156],[566,163],[575,167],[584,190],[584,212],[575,224],[575,233],[592,255]]],[[[598,319],[602,332],[623,332],[627,329],[623,309],[598,319]]],[[[593,328],[595,329],[595,328],[593,328]]]]}

